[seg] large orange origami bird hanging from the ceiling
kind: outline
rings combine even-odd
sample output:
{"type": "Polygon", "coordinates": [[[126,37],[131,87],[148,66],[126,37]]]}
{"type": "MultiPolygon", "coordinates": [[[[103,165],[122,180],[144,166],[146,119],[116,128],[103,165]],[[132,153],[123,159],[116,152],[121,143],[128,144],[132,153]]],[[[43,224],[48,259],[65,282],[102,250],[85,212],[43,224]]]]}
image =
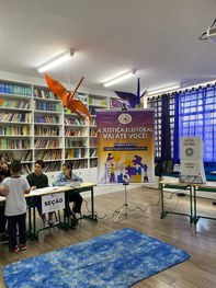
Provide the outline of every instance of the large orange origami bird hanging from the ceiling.
{"type": "Polygon", "coordinates": [[[72,113],[76,113],[83,120],[86,119],[87,116],[91,120],[91,114],[89,113],[89,110],[87,108],[87,106],[80,100],[77,100],[73,97],[75,93],[77,92],[77,90],[79,89],[80,84],[82,83],[84,79],[83,77],[79,81],[76,89],[71,92],[68,92],[67,89],[62,84],[60,84],[57,80],[55,80],[50,76],[45,73],[45,78],[46,78],[48,88],[50,89],[52,92],[54,92],[54,94],[59,96],[59,99],[62,102],[62,106],[65,108],[68,108],[72,113]]]}

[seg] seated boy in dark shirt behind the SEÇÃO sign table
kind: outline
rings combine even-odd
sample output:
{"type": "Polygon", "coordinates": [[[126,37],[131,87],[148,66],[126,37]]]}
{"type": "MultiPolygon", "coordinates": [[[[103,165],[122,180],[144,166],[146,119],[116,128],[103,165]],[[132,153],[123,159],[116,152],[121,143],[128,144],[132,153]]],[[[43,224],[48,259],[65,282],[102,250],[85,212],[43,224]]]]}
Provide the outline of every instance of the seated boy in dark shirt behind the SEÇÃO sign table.
{"type": "MultiPolygon", "coordinates": [[[[45,163],[39,159],[34,164],[34,172],[26,176],[32,191],[48,187],[48,177],[43,173],[45,163]]],[[[35,205],[44,227],[53,226],[55,223],[53,220],[53,212],[48,214],[48,220],[46,219],[46,215],[42,214],[42,197],[35,199],[35,205]]]]}

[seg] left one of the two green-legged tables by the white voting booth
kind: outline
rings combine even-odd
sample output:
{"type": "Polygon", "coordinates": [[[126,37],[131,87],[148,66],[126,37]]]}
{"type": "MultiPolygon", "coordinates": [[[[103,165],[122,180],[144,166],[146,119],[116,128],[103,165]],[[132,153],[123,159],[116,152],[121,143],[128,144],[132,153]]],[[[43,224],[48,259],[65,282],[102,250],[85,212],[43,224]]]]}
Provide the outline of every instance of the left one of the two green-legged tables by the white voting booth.
{"type": "Polygon", "coordinates": [[[160,218],[163,219],[168,214],[175,214],[175,215],[183,215],[190,218],[190,223],[193,222],[194,215],[193,215],[193,187],[189,183],[178,183],[178,182],[169,182],[169,181],[160,181],[160,193],[161,193],[161,214],[160,218]],[[181,189],[181,191],[189,191],[190,193],[190,211],[189,214],[184,212],[175,212],[169,211],[164,209],[164,188],[167,189],[181,189]]]}

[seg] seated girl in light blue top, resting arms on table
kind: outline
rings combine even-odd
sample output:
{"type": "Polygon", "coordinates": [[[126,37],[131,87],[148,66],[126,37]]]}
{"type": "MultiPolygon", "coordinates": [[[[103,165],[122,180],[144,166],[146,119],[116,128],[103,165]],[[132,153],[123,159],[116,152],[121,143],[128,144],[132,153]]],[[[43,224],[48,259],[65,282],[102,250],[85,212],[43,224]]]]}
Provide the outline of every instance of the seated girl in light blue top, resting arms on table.
{"type": "MultiPolygon", "coordinates": [[[[54,186],[66,186],[70,183],[81,183],[82,178],[72,173],[72,163],[66,162],[62,165],[62,171],[57,175],[54,186]]],[[[69,195],[69,201],[73,201],[72,210],[70,206],[68,207],[69,216],[71,218],[71,226],[78,223],[76,214],[81,214],[82,196],[79,193],[73,193],[69,195]]],[[[68,215],[66,215],[68,216],[68,215]]]]}

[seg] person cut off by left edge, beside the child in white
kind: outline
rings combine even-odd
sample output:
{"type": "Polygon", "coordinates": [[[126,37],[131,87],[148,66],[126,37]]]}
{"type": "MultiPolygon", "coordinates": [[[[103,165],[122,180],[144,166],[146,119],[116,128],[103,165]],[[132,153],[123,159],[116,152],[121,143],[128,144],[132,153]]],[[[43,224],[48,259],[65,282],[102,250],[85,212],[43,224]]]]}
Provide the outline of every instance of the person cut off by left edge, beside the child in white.
{"type": "MultiPolygon", "coordinates": [[[[8,163],[3,154],[0,154],[0,183],[11,175],[8,163]]],[[[0,206],[0,243],[9,243],[9,237],[7,234],[7,217],[4,215],[4,207],[0,206]]]]}

